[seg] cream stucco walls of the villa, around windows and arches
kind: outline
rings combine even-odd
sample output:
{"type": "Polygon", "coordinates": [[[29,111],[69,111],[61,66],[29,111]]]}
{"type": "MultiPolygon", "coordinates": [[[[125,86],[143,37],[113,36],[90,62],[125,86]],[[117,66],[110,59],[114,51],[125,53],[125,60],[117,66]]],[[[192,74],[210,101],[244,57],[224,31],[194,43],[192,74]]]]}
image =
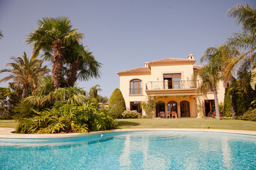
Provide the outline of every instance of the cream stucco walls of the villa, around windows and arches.
{"type": "MultiPolygon", "coordinates": [[[[175,65],[166,65],[166,66],[153,66],[151,67],[150,75],[129,75],[129,76],[120,76],[119,89],[122,91],[124,96],[124,101],[127,109],[130,109],[130,102],[134,101],[144,101],[147,97],[146,95],[146,86],[150,87],[150,81],[164,81],[164,74],[174,74],[181,73],[181,80],[191,80],[193,75],[193,64],[175,64],[175,65]],[[133,79],[142,80],[142,95],[129,95],[130,81],[133,79]]],[[[223,82],[221,81],[218,86],[218,103],[224,101],[225,88],[223,82]]],[[[168,103],[171,101],[170,98],[161,98],[161,101],[168,103]]],[[[200,110],[204,111],[204,108],[198,108],[198,105],[203,107],[205,100],[213,100],[213,93],[207,94],[206,96],[192,96],[189,98],[177,98],[178,108],[180,107],[179,103],[183,100],[189,101],[191,108],[191,117],[198,117],[198,112],[200,110]],[[198,101],[198,102],[197,102],[198,101]]],[[[144,114],[144,113],[143,113],[144,114]]],[[[178,118],[181,117],[180,109],[178,109],[178,118]]]]}

